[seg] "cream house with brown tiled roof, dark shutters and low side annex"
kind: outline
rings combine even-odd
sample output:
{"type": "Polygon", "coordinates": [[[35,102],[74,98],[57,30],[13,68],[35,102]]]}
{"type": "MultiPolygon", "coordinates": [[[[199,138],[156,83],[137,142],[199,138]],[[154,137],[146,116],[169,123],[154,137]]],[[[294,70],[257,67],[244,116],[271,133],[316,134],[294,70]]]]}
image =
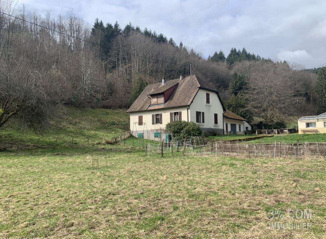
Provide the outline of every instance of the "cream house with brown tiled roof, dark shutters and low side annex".
{"type": "Polygon", "coordinates": [[[192,121],[205,132],[220,134],[243,133],[250,126],[227,111],[218,92],[195,75],[184,78],[181,74],[178,79],[146,86],[127,112],[130,131],[145,139],[165,139],[166,124],[175,120],[192,121]]]}

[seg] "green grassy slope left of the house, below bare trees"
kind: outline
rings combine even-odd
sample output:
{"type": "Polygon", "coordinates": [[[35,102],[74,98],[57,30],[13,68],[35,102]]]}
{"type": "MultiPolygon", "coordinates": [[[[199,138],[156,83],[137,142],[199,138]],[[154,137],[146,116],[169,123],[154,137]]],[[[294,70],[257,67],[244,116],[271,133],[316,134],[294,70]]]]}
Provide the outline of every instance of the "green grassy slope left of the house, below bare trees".
{"type": "Polygon", "coordinates": [[[10,145],[69,147],[95,144],[111,140],[129,130],[129,114],[125,109],[78,109],[66,107],[50,127],[41,132],[20,129],[15,121],[9,121],[0,130],[0,146],[10,145]]]}

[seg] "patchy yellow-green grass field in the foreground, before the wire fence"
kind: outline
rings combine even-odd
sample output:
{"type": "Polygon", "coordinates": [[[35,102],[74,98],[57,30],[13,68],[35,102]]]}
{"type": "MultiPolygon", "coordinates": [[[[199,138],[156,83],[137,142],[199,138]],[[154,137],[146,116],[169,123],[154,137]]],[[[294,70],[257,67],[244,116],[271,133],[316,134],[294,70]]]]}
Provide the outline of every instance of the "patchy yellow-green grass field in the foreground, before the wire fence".
{"type": "Polygon", "coordinates": [[[145,157],[117,145],[6,151],[0,238],[323,238],[325,186],[324,160],[145,157]],[[312,219],[269,219],[306,208],[312,219]]]}

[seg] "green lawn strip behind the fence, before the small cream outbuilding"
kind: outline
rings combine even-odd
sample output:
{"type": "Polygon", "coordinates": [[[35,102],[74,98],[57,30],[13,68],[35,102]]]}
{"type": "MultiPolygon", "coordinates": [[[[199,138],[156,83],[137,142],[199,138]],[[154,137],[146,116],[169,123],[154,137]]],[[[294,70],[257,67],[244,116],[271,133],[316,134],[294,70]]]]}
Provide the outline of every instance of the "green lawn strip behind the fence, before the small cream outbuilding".
{"type": "Polygon", "coordinates": [[[250,142],[261,143],[271,141],[289,141],[289,142],[326,142],[326,134],[284,134],[274,135],[274,137],[265,137],[261,139],[254,139],[250,142]]]}

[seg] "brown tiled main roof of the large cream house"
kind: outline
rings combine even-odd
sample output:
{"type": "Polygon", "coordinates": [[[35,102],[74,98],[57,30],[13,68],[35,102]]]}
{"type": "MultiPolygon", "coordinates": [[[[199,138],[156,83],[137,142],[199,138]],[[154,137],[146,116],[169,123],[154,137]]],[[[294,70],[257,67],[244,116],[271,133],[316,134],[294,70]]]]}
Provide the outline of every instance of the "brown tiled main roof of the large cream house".
{"type": "Polygon", "coordinates": [[[218,95],[218,92],[214,88],[209,86],[205,81],[198,79],[196,75],[190,75],[186,76],[182,80],[178,78],[167,81],[164,85],[159,82],[146,86],[145,89],[139,95],[139,97],[127,110],[127,112],[187,106],[192,103],[199,89],[205,89],[208,91],[215,92],[219,100],[221,101],[223,109],[225,110],[223,102],[220,96],[218,95]],[[148,98],[148,95],[163,93],[165,90],[168,90],[176,84],[178,84],[178,86],[175,87],[169,99],[164,104],[150,105],[151,100],[148,98]]]}

